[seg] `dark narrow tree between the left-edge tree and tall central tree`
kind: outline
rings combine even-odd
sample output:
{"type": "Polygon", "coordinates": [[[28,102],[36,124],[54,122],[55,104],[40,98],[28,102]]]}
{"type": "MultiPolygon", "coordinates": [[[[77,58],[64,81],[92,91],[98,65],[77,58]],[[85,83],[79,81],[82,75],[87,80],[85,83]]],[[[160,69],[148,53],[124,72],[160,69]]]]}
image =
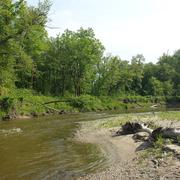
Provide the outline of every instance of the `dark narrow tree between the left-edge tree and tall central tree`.
{"type": "Polygon", "coordinates": [[[41,73],[37,80],[37,90],[45,94],[64,95],[71,90],[69,60],[61,36],[51,38],[48,50],[38,61],[38,71],[41,73]]]}

